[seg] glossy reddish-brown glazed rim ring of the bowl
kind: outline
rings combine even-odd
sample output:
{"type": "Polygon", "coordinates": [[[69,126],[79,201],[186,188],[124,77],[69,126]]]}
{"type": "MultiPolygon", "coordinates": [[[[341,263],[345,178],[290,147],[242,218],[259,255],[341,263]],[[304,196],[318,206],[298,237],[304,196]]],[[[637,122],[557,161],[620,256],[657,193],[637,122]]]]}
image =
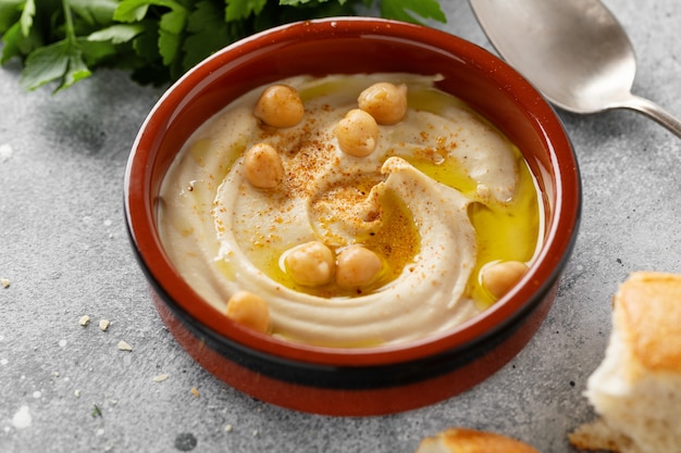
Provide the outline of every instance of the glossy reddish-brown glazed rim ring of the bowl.
{"type": "Polygon", "coordinates": [[[283,25],[242,39],[203,60],[173,84],[146,117],[131,151],[124,188],[126,225],[138,261],[151,285],[159,289],[164,298],[170,298],[175,310],[238,349],[250,350],[255,354],[277,361],[347,367],[413,362],[458,351],[507,328],[538,304],[558,280],[571,254],[581,212],[580,175],[570,140],[553,108],[522,76],[485,49],[457,36],[426,26],[372,17],[330,17],[283,25]],[[195,93],[196,87],[201,86],[205,77],[219,72],[226,62],[249,51],[261,51],[262,47],[268,46],[274,47],[278,42],[277,39],[295,41],[300,30],[339,34],[340,37],[344,36],[343,33],[366,33],[367,36],[394,41],[444,47],[458,58],[473,62],[475,71],[494,73],[491,77],[495,81],[506,79],[518,84],[516,87],[521,88],[518,91],[525,93],[523,95],[528,98],[525,103],[533,105],[532,118],[548,147],[552,173],[556,172],[554,186],[556,204],[553,206],[555,213],[552,215],[554,222],[550,223],[541,252],[528,274],[493,306],[449,331],[420,340],[369,348],[319,347],[262,335],[232,322],[203,301],[174,269],[154,234],[153,214],[138,211],[140,206],[143,210],[145,206],[151,209],[144,200],[146,193],[136,191],[137,186],[134,184],[136,178],[144,179],[144,176],[151,172],[146,161],[150,151],[143,149],[144,141],[148,140],[150,130],[157,130],[170,121],[175,109],[186,101],[185,97],[195,93]],[[569,162],[559,161],[559,155],[569,162]],[[574,198],[566,199],[567,193],[573,194],[574,198]],[[568,232],[561,235],[561,230],[568,232]],[[175,278],[177,281],[174,281],[175,278]],[[181,297],[177,297],[178,294],[181,297]],[[218,316],[222,317],[220,324],[215,322],[218,316]]]}

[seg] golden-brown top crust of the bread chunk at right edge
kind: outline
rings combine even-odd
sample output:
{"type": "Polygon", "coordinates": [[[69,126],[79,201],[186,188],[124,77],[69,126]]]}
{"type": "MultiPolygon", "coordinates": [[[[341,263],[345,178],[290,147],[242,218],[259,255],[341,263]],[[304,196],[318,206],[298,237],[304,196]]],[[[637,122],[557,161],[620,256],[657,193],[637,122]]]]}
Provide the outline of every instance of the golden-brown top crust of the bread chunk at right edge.
{"type": "Polygon", "coordinates": [[[681,373],[681,275],[633,273],[614,303],[614,322],[641,366],[681,373]]]}

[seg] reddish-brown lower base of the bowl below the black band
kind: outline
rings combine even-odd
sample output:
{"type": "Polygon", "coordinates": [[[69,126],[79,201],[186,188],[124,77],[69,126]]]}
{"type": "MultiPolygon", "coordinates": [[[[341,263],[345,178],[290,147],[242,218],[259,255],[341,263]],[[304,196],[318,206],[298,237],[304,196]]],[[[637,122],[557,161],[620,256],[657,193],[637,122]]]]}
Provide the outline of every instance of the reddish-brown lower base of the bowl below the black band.
{"type": "Polygon", "coordinates": [[[154,291],[151,294],[163,323],[182,348],[205,369],[235,389],[258,400],[306,413],[372,416],[416,410],[447,400],[492,376],[513,358],[534,336],[550,310],[556,287],[522,325],[485,355],[434,378],[368,390],[300,386],[240,366],[211,349],[205,339],[198,338],[178,319],[154,291]]]}

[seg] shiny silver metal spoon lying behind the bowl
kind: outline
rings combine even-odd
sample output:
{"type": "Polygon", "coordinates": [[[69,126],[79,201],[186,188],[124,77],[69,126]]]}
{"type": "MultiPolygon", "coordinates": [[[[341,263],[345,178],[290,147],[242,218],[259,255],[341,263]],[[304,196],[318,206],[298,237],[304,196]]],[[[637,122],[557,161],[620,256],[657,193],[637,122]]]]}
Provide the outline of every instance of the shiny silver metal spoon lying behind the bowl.
{"type": "Polygon", "coordinates": [[[636,59],[598,0],[469,0],[492,45],[557,106],[574,113],[630,109],[681,137],[681,121],[631,93],[636,59]]]}

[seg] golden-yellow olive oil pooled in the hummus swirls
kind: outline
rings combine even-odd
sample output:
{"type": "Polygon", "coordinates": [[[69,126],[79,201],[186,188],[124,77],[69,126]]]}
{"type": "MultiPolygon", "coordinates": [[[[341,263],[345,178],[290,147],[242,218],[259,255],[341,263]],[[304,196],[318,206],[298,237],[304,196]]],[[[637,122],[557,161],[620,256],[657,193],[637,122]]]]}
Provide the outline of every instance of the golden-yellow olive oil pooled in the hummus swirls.
{"type": "MultiPolygon", "coordinates": [[[[313,86],[302,91],[304,101],[321,96],[330,96],[336,90],[348,90],[342,81],[334,81],[313,86]]],[[[352,88],[350,86],[349,88],[352,88]]],[[[498,131],[484,117],[471,110],[458,98],[444,93],[432,87],[419,85],[409,87],[410,109],[423,110],[434,114],[442,114],[446,109],[463,109],[476,119],[498,131]]],[[[396,126],[399,127],[399,126],[396,126]]],[[[509,142],[517,160],[517,189],[513,197],[499,202],[491,197],[482,197],[478,192],[478,181],[463,168],[461,163],[451,156],[446,149],[412,149],[398,154],[417,169],[433,180],[459,190],[471,203],[468,214],[475,229],[478,257],[468,282],[467,297],[473,299],[479,309],[483,310],[495,302],[480,281],[481,269],[488,263],[497,261],[530,262],[537,248],[541,234],[541,211],[537,198],[536,183],[528,167],[520,150],[509,142]]],[[[193,150],[195,159],[201,159],[203,147],[193,150]]],[[[232,153],[238,155],[238,153],[232,153]]],[[[387,159],[387,156],[386,156],[387,159]]],[[[226,172],[233,162],[225,163],[221,172],[226,172]]],[[[224,176],[224,175],[218,175],[224,176]]],[[[220,179],[218,179],[220,180],[220,179]]],[[[367,190],[368,192],[369,190],[367,190]]],[[[395,193],[387,190],[380,197],[381,227],[375,231],[357,237],[355,243],[362,244],[374,251],[384,262],[380,277],[368,288],[347,290],[337,287],[334,282],[309,288],[297,285],[286,273],[283,256],[286,250],[271,250],[267,255],[259,254],[253,264],[264,274],[278,284],[292,290],[323,298],[350,298],[380,291],[382,287],[396,279],[410,263],[413,263],[420,253],[421,238],[418,226],[411,216],[409,207],[395,193]],[[267,256],[267,257],[265,257],[267,256]]],[[[333,248],[338,253],[342,248],[333,248]]],[[[223,274],[228,266],[220,266],[223,274]]]]}

